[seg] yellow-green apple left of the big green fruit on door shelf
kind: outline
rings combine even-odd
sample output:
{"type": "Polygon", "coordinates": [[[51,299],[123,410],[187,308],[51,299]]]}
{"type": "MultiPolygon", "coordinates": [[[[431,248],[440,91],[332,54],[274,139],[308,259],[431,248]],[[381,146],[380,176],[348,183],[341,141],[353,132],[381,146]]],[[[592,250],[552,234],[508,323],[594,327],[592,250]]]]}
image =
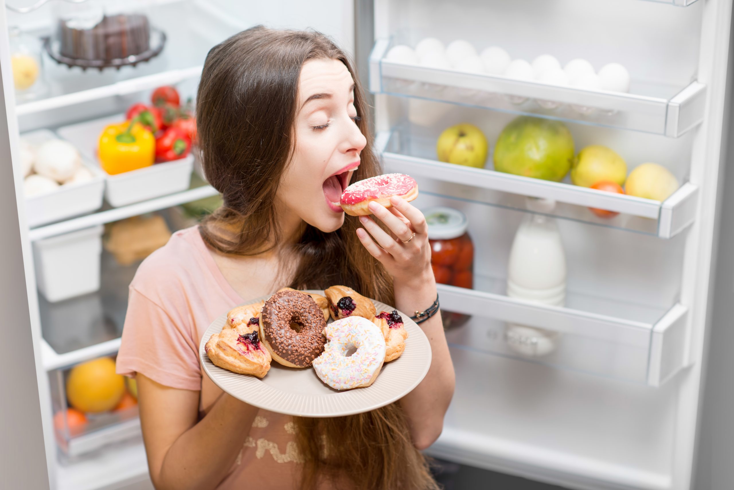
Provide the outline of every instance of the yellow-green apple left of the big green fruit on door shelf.
{"type": "Polygon", "coordinates": [[[436,153],[439,161],[482,169],[487,160],[487,138],[475,125],[457,124],[438,137],[436,153]]]}

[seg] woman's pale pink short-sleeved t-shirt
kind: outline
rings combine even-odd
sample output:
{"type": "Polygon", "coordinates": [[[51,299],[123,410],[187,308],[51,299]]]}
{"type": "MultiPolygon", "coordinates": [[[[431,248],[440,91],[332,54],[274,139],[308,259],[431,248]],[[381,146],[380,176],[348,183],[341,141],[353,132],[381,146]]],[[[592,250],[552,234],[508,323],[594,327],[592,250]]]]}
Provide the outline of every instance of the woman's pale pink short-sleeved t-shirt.
{"type": "MultiPolygon", "coordinates": [[[[145,259],[130,285],[117,373],[142,373],[167,387],[200,390],[203,417],[222,393],[199,363],[199,342],[223,312],[243,299],[211,257],[198,227],[172,235],[145,259]]],[[[217,487],[297,488],[302,461],[291,417],[260,410],[227,477],[217,487]]]]}

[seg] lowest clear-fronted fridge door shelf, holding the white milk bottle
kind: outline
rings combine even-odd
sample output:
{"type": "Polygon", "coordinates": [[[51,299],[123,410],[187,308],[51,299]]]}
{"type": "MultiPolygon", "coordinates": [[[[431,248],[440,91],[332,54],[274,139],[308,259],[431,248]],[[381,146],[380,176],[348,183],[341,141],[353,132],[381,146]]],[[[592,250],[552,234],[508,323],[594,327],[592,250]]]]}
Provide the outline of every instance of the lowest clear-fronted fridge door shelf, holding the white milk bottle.
{"type": "Polygon", "coordinates": [[[454,349],[651,387],[685,365],[688,309],[681,304],[664,310],[568,291],[567,306],[553,307],[505,296],[502,279],[475,275],[474,280],[475,289],[438,285],[442,310],[472,315],[446,332],[454,349]],[[516,348],[518,343],[524,348],[516,348]]]}

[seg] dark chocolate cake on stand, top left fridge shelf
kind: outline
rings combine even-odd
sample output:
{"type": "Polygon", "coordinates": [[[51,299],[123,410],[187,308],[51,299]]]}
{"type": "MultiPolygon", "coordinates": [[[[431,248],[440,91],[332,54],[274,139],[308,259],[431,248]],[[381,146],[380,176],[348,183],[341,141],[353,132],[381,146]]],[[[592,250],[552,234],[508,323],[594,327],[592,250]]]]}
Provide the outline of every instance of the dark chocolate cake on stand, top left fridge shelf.
{"type": "Polygon", "coordinates": [[[150,48],[150,24],[140,14],[104,15],[88,28],[76,19],[62,19],[59,41],[60,54],[69,58],[100,61],[126,58],[150,48]]]}

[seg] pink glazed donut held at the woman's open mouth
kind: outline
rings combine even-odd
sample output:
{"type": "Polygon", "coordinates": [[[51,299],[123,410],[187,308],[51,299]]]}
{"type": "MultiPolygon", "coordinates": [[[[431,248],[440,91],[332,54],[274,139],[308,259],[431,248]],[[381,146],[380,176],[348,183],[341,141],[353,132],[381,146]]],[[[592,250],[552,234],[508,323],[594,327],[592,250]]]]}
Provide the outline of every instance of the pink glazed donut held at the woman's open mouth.
{"type": "Polygon", "coordinates": [[[385,208],[392,207],[390,197],[400,196],[406,201],[418,197],[418,184],[410,175],[385,174],[377,175],[353,183],[341,194],[341,208],[351,216],[367,216],[372,214],[367,206],[377,201],[385,208]]]}

